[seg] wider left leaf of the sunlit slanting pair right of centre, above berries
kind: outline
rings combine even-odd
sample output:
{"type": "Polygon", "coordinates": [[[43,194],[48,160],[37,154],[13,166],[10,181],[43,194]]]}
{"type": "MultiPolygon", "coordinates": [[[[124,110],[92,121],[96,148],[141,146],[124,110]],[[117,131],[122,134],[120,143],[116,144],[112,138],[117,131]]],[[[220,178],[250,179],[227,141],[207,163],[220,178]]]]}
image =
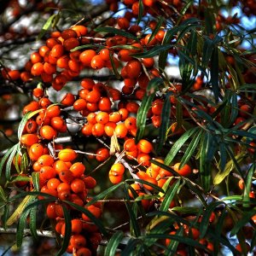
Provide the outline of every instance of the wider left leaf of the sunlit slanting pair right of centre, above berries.
{"type": "Polygon", "coordinates": [[[183,144],[189,139],[189,137],[192,137],[196,131],[198,131],[200,128],[195,127],[188,131],[186,131],[182,137],[180,137],[176,143],[173,144],[171,150],[166,155],[165,164],[166,166],[169,166],[172,163],[172,160],[175,158],[178,150],[183,147],[183,144]]]}

